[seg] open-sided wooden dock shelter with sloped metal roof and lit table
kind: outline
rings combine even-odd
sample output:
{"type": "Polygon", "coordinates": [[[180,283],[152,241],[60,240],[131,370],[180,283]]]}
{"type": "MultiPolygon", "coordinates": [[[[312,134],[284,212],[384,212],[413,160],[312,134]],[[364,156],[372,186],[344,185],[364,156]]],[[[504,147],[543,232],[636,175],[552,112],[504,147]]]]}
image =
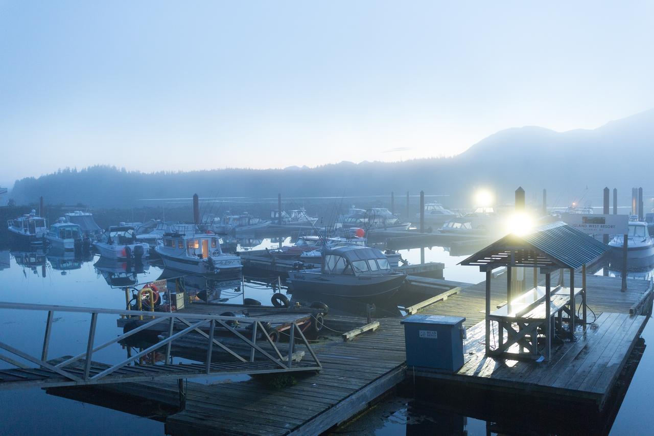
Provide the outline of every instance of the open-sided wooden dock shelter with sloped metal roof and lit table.
{"type": "Polygon", "coordinates": [[[574,340],[575,326],[587,324],[586,265],[608,251],[608,245],[591,236],[557,222],[533,228],[524,234],[508,234],[460,262],[479,266],[486,273],[485,353],[509,359],[549,361],[555,337],[574,340]],[[490,280],[492,271],[506,267],[506,304],[491,311],[490,280]],[[521,268],[533,268],[531,289],[519,289],[515,275],[521,268]],[[581,287],[575,285],[575,270],[581,268],[581,287]],[[552,286],[551,275],[560,270],[560,282],[552,286]],[[570,271],[570,283],[564,286],[564,271],[570,271]],[[538,272],[545,285],[538,285],[538,272]],[[581,304],[576,306],[576,297],[581,304]],[[581,312],[581,313],[580,313],[581,312]],[[498,325],[498,338],[491,347],[490,335],[498,325]],[[566,329],[567,327],[567,329],[566,329]],[[506,341],[505,341],[506,332],[506,341]]]}

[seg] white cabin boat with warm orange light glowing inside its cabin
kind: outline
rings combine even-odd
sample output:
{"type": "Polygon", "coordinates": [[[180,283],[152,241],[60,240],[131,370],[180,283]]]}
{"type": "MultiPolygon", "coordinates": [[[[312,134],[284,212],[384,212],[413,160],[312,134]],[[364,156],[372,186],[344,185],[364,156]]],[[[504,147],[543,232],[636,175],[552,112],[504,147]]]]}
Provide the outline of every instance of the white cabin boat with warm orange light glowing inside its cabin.
{"type": "Polygon", "coordinates": [[[166,268],[190,274],[241,274],[241,258],[222,253],[213,233],[169,233],[155,251],[166,268]]]}

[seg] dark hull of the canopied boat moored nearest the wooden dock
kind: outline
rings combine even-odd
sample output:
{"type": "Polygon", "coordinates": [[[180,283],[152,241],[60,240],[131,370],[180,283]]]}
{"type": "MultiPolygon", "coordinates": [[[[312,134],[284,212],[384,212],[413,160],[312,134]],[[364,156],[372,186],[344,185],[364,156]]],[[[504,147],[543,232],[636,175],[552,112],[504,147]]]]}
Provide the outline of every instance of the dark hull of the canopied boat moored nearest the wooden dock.
{"type": "Polygon", "coordinates": [[[293,291],[307,291],[351,299],[390,298],[400,289],[405,278],[405,274],[332,276],[320,272],[288,272],[288,282],[293,291]]]}

